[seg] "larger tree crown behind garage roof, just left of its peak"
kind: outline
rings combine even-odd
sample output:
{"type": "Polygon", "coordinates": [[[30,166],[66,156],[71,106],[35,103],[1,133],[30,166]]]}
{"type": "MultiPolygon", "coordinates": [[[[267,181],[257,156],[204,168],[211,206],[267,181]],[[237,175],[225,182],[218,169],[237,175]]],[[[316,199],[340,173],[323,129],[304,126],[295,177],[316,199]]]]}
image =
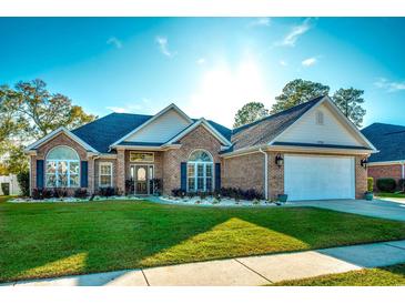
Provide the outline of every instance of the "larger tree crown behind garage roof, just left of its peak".
{"type": "Polygon", "coordinates": [[[271,112],[273,114],[279,113],[320,95],[327,95],[328,93],[330,87],[327,85],[308,80],[295,79],[285,84],[282,93],[275,98],[276,102],[273,104],[271,112]]]}

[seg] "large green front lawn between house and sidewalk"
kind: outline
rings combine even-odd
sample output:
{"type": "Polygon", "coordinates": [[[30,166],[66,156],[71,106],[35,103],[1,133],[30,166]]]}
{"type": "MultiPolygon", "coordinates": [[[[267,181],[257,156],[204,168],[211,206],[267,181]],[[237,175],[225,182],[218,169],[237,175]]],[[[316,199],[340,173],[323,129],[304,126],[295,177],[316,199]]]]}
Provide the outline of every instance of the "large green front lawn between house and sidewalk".
{"type": "Polygon", "coordinates": [[[405,223],[314,207],[0,203],[0,282],[405,239],[405,223]]]}

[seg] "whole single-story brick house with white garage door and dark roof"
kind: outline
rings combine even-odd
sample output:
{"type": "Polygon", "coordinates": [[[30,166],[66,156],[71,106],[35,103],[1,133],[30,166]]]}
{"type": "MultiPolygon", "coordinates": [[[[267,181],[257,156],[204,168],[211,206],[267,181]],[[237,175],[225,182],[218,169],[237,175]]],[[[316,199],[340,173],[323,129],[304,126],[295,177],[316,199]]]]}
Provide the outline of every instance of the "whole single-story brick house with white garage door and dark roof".
{"type": "Polygon", "coordinates": [[[150,194],[156,178],[165,194],[233,186],[290,200],[362,197],[362,161],[375,151],[328,97],[235,130],[191,119],[174,104],[155,115],[112,113],[60,128],[26,150],[31,189],[125,191],[132,179],[135,194],[150,194]]]}

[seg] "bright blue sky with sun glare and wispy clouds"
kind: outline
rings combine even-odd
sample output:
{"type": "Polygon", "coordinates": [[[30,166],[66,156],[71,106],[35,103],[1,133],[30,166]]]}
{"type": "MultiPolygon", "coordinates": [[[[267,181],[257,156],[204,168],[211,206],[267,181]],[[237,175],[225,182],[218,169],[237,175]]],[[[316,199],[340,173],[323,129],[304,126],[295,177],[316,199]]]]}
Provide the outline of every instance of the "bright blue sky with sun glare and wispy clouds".
{"type": "Polygon", "coordinates": [[[0,83],[40,78],[85,111],[174,102],[231,126],[295,78],[365,91],[372,122],[405,124],[405,18],[0,18],[0,83]]]}

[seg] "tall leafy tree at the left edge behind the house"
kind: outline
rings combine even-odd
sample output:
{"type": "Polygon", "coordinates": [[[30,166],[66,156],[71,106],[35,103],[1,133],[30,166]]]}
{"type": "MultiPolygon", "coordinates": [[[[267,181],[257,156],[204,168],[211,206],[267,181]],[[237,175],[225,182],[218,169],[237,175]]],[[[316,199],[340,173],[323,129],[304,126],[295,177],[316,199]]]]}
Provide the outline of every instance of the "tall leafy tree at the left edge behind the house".
{"type": "Polygon", "coordinates": [[[80,126],[95,119],[60,93],[47,90],[42,80],[19,82],[13,89],[0,87],[0,155],[11,173],[28,168],[23,144],[38,140],[59,126],[80,126]]]}

